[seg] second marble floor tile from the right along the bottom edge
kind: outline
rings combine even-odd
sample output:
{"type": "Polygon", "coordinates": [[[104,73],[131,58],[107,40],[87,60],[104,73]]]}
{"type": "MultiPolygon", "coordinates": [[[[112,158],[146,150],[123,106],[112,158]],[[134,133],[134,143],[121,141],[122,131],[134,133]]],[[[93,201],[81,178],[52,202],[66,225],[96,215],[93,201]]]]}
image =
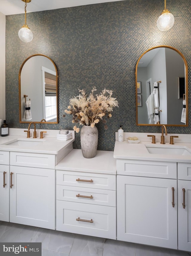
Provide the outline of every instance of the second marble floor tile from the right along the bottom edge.
{"type": "Polygon", "coordinates": [[[135,244],[136,256],[169,256],[168,249],[135,244]]]}

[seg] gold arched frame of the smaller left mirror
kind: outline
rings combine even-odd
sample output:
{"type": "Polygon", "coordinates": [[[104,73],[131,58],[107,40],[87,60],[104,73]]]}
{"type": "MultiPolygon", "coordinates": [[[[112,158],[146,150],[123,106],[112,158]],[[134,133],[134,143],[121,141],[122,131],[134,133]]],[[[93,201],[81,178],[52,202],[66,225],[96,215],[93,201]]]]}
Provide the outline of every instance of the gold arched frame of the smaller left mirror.
{"type": "MultiPolygon", "coordinates": [[[[20,123],[30,123],[31,121],[22,121],[22,116],[21,116],[21,71],[22,71],[22,68],[24,66],[24,64],[27,62],[27,60],[29,60],[30,58],[34,57],[34,56],[44,56],[46,57],[47,59],[49,59],[54,67],[55,67],[55,70],[56,70],[56,107],[57,107],[57,121],[56,122],[45,122],[44,120],[45,119],[41,119],[41,121],[32,121],[32,122],[35,122],[35,123],[47,123],[47,124],[57,124],[58,123],[58,70],[57,70],[57,67],[55,65],[55,63],[53,62],[52,59],[50,59],[48,56],[46,55],[43,55],[43,54],[34,54],[34,55],[31,55],[29,56],[27,59],[24,60],[24,62],[22,63],[20,69],[19,69],[19,122],[20,123]]],[[[26,95],[25,95],[26,96],[26,95]]],[[[26,100],[26,98],[25,98],[26,100]]]]}

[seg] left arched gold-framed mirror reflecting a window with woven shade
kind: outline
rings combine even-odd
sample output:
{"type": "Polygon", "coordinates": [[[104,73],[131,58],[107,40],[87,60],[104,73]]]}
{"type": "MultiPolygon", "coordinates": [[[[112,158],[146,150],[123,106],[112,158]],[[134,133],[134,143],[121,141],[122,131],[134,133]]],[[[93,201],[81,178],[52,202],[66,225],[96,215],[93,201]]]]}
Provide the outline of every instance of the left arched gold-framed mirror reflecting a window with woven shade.
{"type": "Polygon", "coordinates": [[[19,70],[19,121],[58,123],[58,71],[45,55],[28,57],[19,70]]]}

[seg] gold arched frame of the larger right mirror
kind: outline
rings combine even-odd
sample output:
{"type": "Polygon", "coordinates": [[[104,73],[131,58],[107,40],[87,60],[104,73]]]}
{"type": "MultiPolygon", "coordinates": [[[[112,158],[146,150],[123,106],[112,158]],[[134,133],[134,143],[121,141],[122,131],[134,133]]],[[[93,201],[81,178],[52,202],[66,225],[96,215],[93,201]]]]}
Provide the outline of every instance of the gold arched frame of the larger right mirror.
{"type": "Polygon", "coordinates": [[[170,48],[172,50],[175,50],[178,54],[180,54],[180,56],[182,57],[182,59],[184,60],[184,65],[185,65],[185,99],[186,99],[186,124],[185,125],[175,125],[175,124],[165,124],[165,126],[183,126],[186,127],[188,126],[188,65],[187,65],[187,61],[184,57],[184,55],[177,50],[174,47],[171,46],[167,46],[167,45],[160,45],[160,46],[155,46],[152,47],[150,49],[148,49],[147,51],[145,51],[138,59],[138,62],[136,64],[136,68],[135,68],[135,90],[136,90],[136,125],[142,125],[142,126],[161,126],[163,124],[138,124],[138,104],[137,104],[137,68],[138,68],[138,63],[141,59],[141,57],[146,54],[147,52],[149,52],[150,50],[156,49],[156,48],[161,48],[161,47],[166,47],[166,48],[170,48]]]}

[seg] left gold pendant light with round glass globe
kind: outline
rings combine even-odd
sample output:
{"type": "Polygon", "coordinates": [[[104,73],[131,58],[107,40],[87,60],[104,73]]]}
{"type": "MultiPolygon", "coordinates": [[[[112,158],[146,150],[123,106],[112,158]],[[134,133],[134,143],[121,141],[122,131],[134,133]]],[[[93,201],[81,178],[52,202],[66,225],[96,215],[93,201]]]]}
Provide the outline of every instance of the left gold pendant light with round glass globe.
{"type": "Polygon", "coordinates": [[[28,43],[33,40],[33,33],[30,30],[30,28],[27,26],[27,10],[26,10],[27,3],[30,3],[31,0],[21,0],[21,1],[25,2],[25,5],[24,5],[25,24],[19,30],[18,35],[19,35],[19,38],[21,39],[21,41],[28,43]]]}

